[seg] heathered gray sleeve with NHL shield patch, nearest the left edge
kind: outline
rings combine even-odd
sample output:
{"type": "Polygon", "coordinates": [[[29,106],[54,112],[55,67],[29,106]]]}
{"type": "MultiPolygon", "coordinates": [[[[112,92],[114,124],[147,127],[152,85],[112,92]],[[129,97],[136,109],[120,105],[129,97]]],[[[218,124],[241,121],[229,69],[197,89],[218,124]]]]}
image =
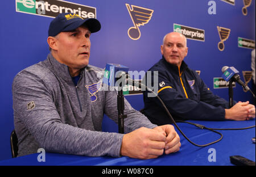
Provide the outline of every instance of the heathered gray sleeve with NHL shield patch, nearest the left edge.
{"type": "Polygon", "coordinates": [[[19,73],[15,77],[13,108],[15,121],[26,127],[20,130],[18,138],[27,133],[26,136],[34,138],[31,143],[36,141],[46,151],[119,157],[123,134],[96,132],[62,123],[51,88],[36,74],[19,73]]]}

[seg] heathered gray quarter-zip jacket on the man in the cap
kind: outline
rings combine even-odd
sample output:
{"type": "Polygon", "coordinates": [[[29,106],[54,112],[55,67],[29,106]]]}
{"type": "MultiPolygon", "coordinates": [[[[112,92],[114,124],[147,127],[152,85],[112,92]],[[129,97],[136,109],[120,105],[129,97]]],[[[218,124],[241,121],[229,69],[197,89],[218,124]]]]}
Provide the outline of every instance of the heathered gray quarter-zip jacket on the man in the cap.
{"type": "MultiPolygon", "coordinates": [[[[52,54],[20,71],[13,81],[18,156],[46,151],[119,157],[123,134],[101,132],[104,113],[118,123],[117,92],[98,89],[102,69],[82,69],[77,86],[68,66],[52,54]],[[98,74],[98,75],[97,75],[98,74]]],[[[125,100],[125,133],[156,125],[125,100]]]]}

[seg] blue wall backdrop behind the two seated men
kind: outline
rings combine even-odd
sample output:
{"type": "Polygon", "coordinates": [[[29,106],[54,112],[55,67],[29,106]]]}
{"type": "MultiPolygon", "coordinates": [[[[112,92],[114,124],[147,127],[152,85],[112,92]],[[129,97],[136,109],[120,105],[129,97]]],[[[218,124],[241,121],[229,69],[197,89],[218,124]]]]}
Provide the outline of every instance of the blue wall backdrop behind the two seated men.
{"type": "MultiPolygon", "coordinates": [[[[52,18],[16,11],[16,3],[19,6],[32,6],[31,2],[35,0],[1,1],[0,5],[0,160],[11,158],[10,133],[14,129],[11,94],[13,78],[20,70],[45,60],[49,52],[47,32],[52,18]]],[[[238,37],[254,40],[255,44],[254,0],[246,7],[247,15],[242,13],[242,0],[216,0],[211,1],[213,3],[210,5],[208,0],[69,2],[95,7],[96,18],[101,22],[101,31],[91,36],[91,65],[105,68],[106,63],[117,63],[129,67],[130,70],[146,71],[162,57],[160,45],[163,36],[174,31],[175,23],[204,30],[204,41],[188,39],[188,56],[184,61],[190,68],[201,71],[201,78],[214,94],[228,100],[228,88],[213,88],[213,78],[221,77],[222,66],[234,66],[241,71],[241,77],[242,71],[251,70],[251,49],[238,47],[238,37]],[[151,19],[139,26],[141,36],[138,40],[131,39],[127,33],[134,23],[126,3],[129,7],[134,5],[153,10],[151,19]],[[217,26],[230,29],[223,51],[218,49],[221,39],[217,26]]],[[[251,81],[249,86],[251,87],[251,81]]],[[[143,108],[142,95],[129,95],[126,98],[135,109],[143,108]]],[[[251,100],[251,95],[237,85],[234,88],[234,99],[251,100]]],[[[117,130],[116,125],[107,117],[104,123],[104,130],[117,130]]]]}

